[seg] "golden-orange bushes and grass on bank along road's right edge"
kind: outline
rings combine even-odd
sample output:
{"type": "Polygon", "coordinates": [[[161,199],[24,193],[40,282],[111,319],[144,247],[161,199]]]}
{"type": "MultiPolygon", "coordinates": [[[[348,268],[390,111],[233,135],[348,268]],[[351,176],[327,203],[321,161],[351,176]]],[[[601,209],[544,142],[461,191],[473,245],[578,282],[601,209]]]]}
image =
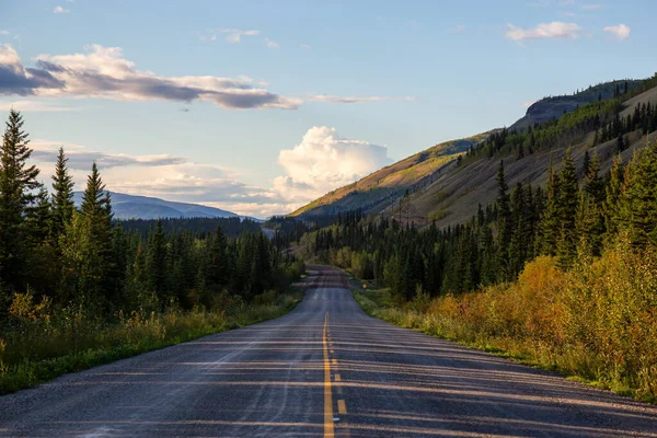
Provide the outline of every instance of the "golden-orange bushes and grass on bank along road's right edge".
{"type": "Polygon", "coordinates": [[[518,281],[394,304],[385,290],[354,289],[372,316],[509,356],[589,384],[657,400],[657,257],[619,244],[569,272],[552,257],[518,281]]]}

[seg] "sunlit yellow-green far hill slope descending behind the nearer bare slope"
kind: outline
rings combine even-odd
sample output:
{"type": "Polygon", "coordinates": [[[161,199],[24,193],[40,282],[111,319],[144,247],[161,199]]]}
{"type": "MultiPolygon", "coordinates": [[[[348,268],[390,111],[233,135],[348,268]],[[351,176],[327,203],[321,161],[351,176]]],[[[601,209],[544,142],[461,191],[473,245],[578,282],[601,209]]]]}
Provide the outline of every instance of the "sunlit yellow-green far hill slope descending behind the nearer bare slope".
{"type": "Polygon", "coordinates": [[[487,132],[446,141],[383,168],[356,183],[337,188],[301,207],[290,216],[335,215],[361,208],[381,211],[396,203],[406,191],[415,192],[456,162],[459,155],[486,138],[487,132]]]}

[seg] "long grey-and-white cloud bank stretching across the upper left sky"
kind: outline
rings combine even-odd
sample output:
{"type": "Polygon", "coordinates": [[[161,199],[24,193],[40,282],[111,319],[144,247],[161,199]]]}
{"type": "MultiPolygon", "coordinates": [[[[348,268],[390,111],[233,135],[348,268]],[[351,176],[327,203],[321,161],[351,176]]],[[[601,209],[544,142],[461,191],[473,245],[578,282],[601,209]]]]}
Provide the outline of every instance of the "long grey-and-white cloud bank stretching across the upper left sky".
{"type": "Polygon", "coordinates": [[[39,55],[35,60],[35,68],[25,68],[11,45],[0,45],[0,94],[118,101],[200,100],[227,110],[293,110],[302,102],[254,87],[244,77],[161,77],[138,70],[119,47],[91,45],[83,54],[39,55]]]}

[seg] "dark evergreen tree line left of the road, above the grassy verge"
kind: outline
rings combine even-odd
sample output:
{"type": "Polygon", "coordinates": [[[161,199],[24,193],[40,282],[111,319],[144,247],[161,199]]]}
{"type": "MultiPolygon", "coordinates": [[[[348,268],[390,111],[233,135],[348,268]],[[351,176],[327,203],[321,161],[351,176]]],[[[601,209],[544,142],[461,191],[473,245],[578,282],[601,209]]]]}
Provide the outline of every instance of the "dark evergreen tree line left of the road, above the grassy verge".
{"type": "Polygon", "coordinates": [[[95,163],[76,208],[65,151],[49,194],[30,164],[23,126],[12,110],[0,150],[0,321],[24,293],[58,309],[112,318],[131,310],[212,308],[222,293],[250,301],[283,291],[302,273],[301,261],[283,254],[249,222],[240,229],[229,221],[234,237],[227,237],[220,224],[203,227],[207,221],[114,221],[95,163]]]}

